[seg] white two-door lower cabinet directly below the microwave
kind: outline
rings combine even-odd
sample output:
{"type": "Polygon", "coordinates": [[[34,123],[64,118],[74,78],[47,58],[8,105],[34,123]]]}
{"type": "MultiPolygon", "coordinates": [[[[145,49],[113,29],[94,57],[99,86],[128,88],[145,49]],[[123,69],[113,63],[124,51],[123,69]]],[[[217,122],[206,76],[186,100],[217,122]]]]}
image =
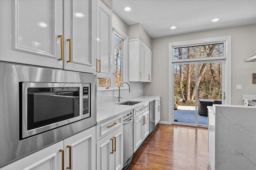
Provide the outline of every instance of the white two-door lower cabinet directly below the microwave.
{"type": "Polygon", "coordinates": [[[72,170],[95,170],[95,143],[96,127],[94,126],[0,170],[64,170],[67,167],[72,170]]]}

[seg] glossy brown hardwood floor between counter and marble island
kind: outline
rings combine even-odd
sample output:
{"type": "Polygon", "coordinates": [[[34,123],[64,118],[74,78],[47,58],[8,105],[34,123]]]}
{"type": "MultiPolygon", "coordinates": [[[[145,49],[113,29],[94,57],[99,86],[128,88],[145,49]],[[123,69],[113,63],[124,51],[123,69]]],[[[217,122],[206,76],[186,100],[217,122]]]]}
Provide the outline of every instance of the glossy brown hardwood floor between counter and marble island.
{"type": "Polygon", "coordinates": [[[210,170],[207,129],[158,123],[127,168],[141,169],[210,170]]]}

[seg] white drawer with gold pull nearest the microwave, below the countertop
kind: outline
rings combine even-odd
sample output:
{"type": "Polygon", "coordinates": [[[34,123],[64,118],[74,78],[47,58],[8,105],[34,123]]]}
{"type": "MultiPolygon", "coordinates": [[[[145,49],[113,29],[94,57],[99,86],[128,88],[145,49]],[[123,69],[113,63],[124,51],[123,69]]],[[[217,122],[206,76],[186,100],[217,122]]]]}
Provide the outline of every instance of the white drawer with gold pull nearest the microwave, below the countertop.
{"type": "Polygon", "coordinates": [[[100,123],[96,126],[96,135],[97,135],[97,141],[106,135],[108,135],[110,132],[114,131],[118,127],[122,126],[123,120],[122,116],[115,117],[114,119],[107,120],[103,123],[100,123]]]}

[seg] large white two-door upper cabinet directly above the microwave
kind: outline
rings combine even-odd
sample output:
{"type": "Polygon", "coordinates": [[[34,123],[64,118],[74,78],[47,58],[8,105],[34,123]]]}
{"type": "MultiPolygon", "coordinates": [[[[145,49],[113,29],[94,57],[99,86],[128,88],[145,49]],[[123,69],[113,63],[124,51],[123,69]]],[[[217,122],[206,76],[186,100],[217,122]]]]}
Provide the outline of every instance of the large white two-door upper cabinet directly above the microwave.
{"type": "Polygon", "coordinates": [[[95,73],[95,0],[4,0],[0,5],[1,61],[95,73]]]}

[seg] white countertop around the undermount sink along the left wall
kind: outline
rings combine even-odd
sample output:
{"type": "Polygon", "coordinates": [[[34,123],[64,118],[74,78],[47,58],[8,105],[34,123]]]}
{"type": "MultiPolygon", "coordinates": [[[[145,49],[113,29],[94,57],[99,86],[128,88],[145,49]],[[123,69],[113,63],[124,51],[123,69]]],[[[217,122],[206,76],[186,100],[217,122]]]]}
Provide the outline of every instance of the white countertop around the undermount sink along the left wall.
{"type": "MultiPolygon", "coordinates": [[[[140,103],[134,104],[132,106],[120,105],[117,104],[118,102],[97,106],[97,124],[121,115],[126,111],[143,106],[144,104],[151,102],[152,100],[156,100],[157,98],[160,98],[160,96],[139,96],[136,98],[128,99],[129,101],[141,101],[140,103]]],[[[123,100],[121,102],[125,102],[128,100],[123,100]]]]}

